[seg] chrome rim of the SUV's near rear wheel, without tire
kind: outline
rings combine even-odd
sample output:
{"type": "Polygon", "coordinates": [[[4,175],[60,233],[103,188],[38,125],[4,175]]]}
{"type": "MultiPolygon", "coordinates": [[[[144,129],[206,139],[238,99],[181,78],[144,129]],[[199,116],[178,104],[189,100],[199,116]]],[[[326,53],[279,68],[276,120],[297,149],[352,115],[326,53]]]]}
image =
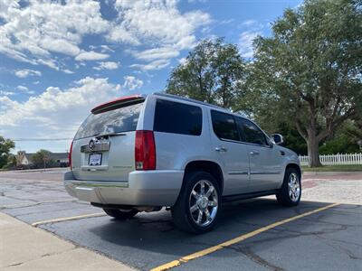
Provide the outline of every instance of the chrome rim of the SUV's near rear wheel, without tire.
{"type": "Polygon", "coordinates": [[[205,227],[213,222],[218,209],[218,195],[212,182],[196,182],[189,197],[189,210],[198,226],[205,227]]]}

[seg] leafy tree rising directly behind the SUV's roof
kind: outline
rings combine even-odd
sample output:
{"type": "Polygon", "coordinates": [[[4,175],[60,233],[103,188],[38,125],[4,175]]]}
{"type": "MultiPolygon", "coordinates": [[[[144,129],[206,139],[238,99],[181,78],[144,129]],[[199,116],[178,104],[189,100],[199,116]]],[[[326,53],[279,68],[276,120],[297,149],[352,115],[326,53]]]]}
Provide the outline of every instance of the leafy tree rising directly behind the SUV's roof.
{"type": "Polygon", "coordinates": [[[185,63],[172,70],[166,91],[231,108],[243,79],[243,66],[236,45],[221,38],[204,40],[189,52],[185,63]]]}

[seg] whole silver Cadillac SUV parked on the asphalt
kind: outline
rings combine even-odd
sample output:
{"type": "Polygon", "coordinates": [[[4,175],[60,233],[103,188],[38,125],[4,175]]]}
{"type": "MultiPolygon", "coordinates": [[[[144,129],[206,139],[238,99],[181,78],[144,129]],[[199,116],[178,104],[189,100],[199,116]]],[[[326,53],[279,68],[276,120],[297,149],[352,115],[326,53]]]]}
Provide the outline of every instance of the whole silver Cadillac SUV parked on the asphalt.
{"type": "Polygon", "coordinates": [[[214,227],[222,202],[275,194],[300,202],[297,154],[251,120],[163,93],[130,96],[91,110],[71,144],[71,196],[115,219],[170,208],[180,229],[214,227]]]}

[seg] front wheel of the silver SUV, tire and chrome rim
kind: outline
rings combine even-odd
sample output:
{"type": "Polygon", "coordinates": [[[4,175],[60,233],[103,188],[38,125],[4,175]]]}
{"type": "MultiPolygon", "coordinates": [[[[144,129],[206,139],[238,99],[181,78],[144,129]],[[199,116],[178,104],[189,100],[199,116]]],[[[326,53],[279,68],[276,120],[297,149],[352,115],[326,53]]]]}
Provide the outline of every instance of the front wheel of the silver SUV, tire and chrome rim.
{"type": "Polygon", "coordinates": [[[283,206],[296,206],[300,203],[301,183],[300,173],[294,168],[287,168],[281,189],[276,194],[277,200],[283,206]]]}

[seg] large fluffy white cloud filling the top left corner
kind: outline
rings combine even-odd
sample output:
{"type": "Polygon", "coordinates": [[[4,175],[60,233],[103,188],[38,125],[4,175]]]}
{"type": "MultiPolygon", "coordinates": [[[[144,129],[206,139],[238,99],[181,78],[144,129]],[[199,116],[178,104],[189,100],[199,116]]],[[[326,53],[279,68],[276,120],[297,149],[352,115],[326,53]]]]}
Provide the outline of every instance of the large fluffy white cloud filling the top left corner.
{"type": "Polygon", "coordinates": [[[52,52],[75,56],[82,36],[106,33],[110,23],[95,1],[43,2],[19,5],[1,1],[0,52],[18,61],[60,70],[52,52]]]}

